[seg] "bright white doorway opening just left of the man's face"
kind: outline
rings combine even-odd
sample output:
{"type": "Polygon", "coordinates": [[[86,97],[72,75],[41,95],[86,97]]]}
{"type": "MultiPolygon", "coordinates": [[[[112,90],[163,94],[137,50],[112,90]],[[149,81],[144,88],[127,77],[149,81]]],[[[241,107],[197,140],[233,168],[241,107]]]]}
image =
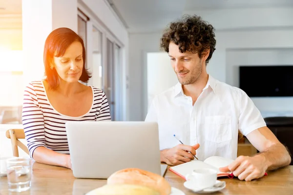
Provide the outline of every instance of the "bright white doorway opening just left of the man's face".
{"type": "Polygon", "coordinates": [[[156,94],[178,83],[166,52],[147,53],[147,107],[156,94]]]}

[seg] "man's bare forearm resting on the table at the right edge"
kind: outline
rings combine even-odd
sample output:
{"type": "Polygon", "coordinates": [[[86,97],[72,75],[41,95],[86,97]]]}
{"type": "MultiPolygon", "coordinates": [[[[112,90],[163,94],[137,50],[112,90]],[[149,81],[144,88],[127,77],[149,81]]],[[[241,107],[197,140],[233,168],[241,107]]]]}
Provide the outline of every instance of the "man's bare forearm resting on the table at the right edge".
{"type": "Polygon", "coordinates": [[[268,170],[274,170],[291,163],[291,156],[281,143],[272,144],[266,151],[258,153],[256,157],[264,157],[268,170]]]}

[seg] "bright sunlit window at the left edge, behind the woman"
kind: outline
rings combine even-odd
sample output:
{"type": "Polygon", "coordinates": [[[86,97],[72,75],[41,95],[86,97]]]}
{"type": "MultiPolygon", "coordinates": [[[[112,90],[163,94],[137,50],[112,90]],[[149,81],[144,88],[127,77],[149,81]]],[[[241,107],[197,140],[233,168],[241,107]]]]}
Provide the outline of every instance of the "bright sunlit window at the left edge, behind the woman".
{"type": "MultiPolygon", "coordinates": [[[[10,31],[14,31],[11,29],[10,31]]],[[[2,32],[0,32],[2,33],[2,32]]],[[[5,38],[3,38],[5,39],[5,38]]],[[[0,123],[22,123],[23,60],[22,50],[14,50],[0,40],[0,123]]],[[[22,43],[18,43],[22,44],[22,43]]],[[[17,48],[21,49],[21,48],[17,48]]]]}

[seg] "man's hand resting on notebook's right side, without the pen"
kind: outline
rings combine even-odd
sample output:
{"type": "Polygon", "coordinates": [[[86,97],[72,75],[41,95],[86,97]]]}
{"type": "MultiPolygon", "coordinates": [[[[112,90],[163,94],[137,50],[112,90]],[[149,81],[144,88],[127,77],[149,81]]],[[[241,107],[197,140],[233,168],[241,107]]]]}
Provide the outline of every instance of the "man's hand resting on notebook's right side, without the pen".
{"type": "Polygon", "coordinates": [[[251,181],[265,175],[268,166],[264,156],[256,155],[238,156],[234,162],[227,167],[221,167],[221,172],[232,172],[240,180],[251,181]]]}

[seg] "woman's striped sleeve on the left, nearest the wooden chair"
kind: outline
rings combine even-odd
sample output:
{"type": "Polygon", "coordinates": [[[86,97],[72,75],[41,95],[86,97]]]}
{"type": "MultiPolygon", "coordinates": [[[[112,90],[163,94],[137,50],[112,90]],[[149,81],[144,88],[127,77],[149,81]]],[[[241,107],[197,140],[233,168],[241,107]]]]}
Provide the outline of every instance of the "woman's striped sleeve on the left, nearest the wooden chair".
{"type": "Polygon", "coordinates": [[[22,104],[22,125],[29,155],[33,157],[36,148],[45,146],[44,116],[39,106],[36,91],[32,84],[29,84],[23,95],[22,104]]]}

